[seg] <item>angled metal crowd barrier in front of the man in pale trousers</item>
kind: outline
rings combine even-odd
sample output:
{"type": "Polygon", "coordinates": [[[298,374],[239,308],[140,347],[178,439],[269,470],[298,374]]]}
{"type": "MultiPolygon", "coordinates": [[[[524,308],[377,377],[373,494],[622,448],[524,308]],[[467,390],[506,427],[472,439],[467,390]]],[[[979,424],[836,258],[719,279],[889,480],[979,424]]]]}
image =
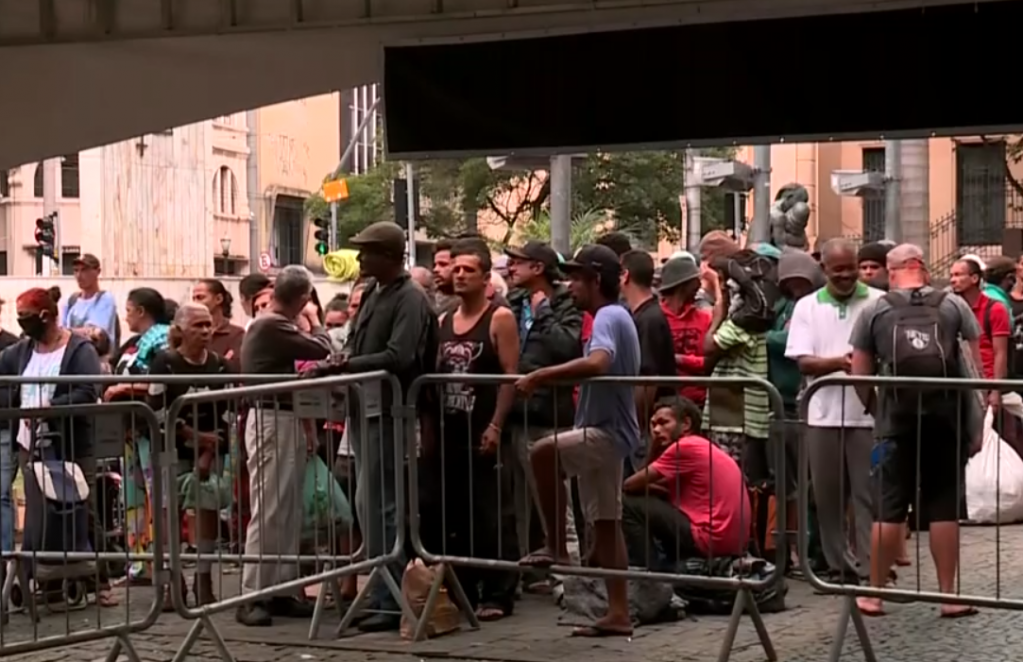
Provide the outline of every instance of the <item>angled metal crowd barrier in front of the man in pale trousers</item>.
{"type": "MultiPolygon", "coordinates": [[[[272,496],[265,494],[259,497],[261,502],[258,504],[258,507],[254,507],[253,517],[258,518],[261,525],[260,528],[263,528],[266,521],[270,519],[270,516],[265,515],[265,511],[281,509],[284,513],[276,513],[274,523],[270,525],[270,528],[274,529],[270,536],[263,538],[261,541],[250,539],[249,546],[259,547],[259,553],[250,554],[239,549],[237,554],[218,554],[215,556],[215,559],[211,560],[210,555],[186,553],[182,548],[180,535],[182,504],[180,495],[177,490],[169,491],[168,510],[171,518],[169,536],[171,567],[170,595],[174,610],[181,617],[194,621],[194,624],[175,655],[175,661],[183,660],[199,635],[205,631],[213,639],[221,658],[225,662],[230,662],[233,660],[233,656],[216,625],[211,620],[212,615],[229,609],[244,609],[256,604],[262,605],[275,598],[302,591],[313,584],[320,584],[321,590],[312,613],[312,623],[309,633],[310,638],[314,638],[317,635],[323,617],[327,594],[329,593],[333,597],[335,605],[341,611],[342,599],[338,581],[360,573],[368,572],[369,577],[358,591],[351,607],[347,612],[341,614],[339,634],[343,633],[352,620],[361,613],[369,590],[377,582],[384,582],[384,585],[399,606],[402,615],[414,623],[414,614],[405,604],[394,573],[388,567],[400,562],[402,558],[405,543],[405,512],[403,507],[397,507],[394,513],[395,540],[390,549],[369,550],[370,554],[363,554],[363,548],[366,546],[363,544],[358,549],[352,549],[350,545],[348,551],[342,553],[338,550],[333,546],[333,543],[339,531],[332,523],[338,521],[340,514],[332,511],[327,516],[331,524],[326,527],[325,531],[316,529],[314,531],[314,538],[311,541],[306,540],[302,542],[307,547],[311,545],[311,554],[303,550],[300,544],[292,544],[292,541],[288,541],[286,544],[280,544],[281,539],[294,534],[299,534],[299,540],[302,538],[299,531],[302,523],[291,521],[287,509],[295,507],[297,500],[298,506],[301,510],[301,492],[304,488],[302,484],[303,477],[297,475],[297,473],[292,476],[293,479],[296,479],[297,483],[292,486],[292,491],[288,493],[281,491],[282,486],[278,484],[278,480],[286,480],[280,474],[286,471],[288,466],[298,461],[302,453],[307,452],[308,436],[311,433],[315,435],[316,432],[309,429],[309,422],[326,421],[328,423],[344,423],[347,417],[353,420],[353,422],[357,420],[359,423],[358,428],[366,431],[368,428],[367,422],[371,420],[385,421],[387,417],[393,417],[394,454],[396,458],[402,461],[396,461],[394,467],[385,468],[381,466],[380,471],[382,474],[384,472],[394,472],[395,499],[398,504],[404,502],[404,471],[402,465],[405,453],[402,416],[405,415],[406,409],[402,406],[401,386],[398,380],[388,372],[374,371],[321,379],[303,379],[283,384],[208,390],[189,393],[178,398],[170,405],[166,417],[169,421],[176,421],[183,415],[187,415],[190,410],[195,411],[202,407],[216,407],[224,403],[239,401],[249,403],[247,430],[255,430],[252,440],[247,440],[246,437],[248,435],[239,433],[241,437],[240,441],[247,447],[253,443],[255,444],[255,448],[248,449],[250,453],[250,468],[256,467],[255,472],[250,471],[249,478],[254,486],[251,491],[255,493],[260,492],[262,488],[256,487],[257,482],[259,485],[272,482],[275,488],[275,493],[272,496]],[[389,386],[392,394],[390,403],[382,401],[382,387],[384,384],[389,386]],[[352,396],[355,394],[358,394],[358,397],[353,398],[352,396]],[[347,406],[347,403],[352,399],[357,400],[359,403],[359,406],[354,411],[350,410],[347,406]],[[390,412],[385,411],[388,408],[390,412]],[[282,412],[288,409],[291,409],[290,414],[282,414],[282,412]],[[282,432],[284,427],[291,427],[292,432],[282,432]],[[267,437],[272,437],[275,442],[279,442],[282,437],[291,437],[291,440],[298,447],[288,449],[278,444],[272,449],[263,448],[261,444],[264,443],[267,437]],[[257,465],[253,464],[254,451],[257,456],[257,465]],[[294,455],[287,457],[286,453],[293,452],[294,455]],[[281,459],[281,465],[277,465],[277,459],[281,459]],[[267,471],[273,471],[275,468],[278,469],[278,475],[272,477],[254,475],[254,473],[259,474],[264,467],[267,471]],[[271,502],[272,504],[270,504],[271,502]],[[323,534],[322,538],[319,537],[320,534],[323,534]],[[324,544],[328,545],[328,548],[324,549],[324,544]],[[262,547],[271,545],[277,547],[290,546],[297,549],[297,553],[284,554],[278,548],[276,551],[263,554],[262,547]],[[221,565],[224,563],[240,565],[243,572],[249,571],[251,573],[250,582],[259,585],[244,585],[247,579],[243,575],[243,585],[240,594],[225,597],[222,591],[218,591],[221,597],[216,599],[215,602],[189,607],[186,602],[186,595],[182,590],[185,565],[190,563],[210,563],[212,561],[217,561],[221,565]],[[296,571],[292,572],[287,568],[288,566],[295,568],[296,571]],[[309,566],[313,567],[312,570],[309,570],[309,566]],[[267,571],[268,568],[270,569],[269,571],[267,571]],[[258,573],[267,571],[272,574],[274,568],[285,577],[277,581],[271,580],[267,585],[263,585],[264,578],[259,577],[258,573]],[[306,570],[306,572],[300,572],[301,570],[306,570]]],[[[166,450],[162,454],[161,459],[161,464],[165,469],[177,467],[180,461],[175,437],[175,431],[168,427],[165,442],[166,450]]],[[[368,444],[380,442],[376,439],[367,439],[366,435],[363,435],[361,439],[353,440],[352,443],[353,445],[356,443],[360,444],[359,448],[362,450],[362,456],[365,457],[368,444]]],[[[327,454],[332,464],[333,449],[337,446],[330,443],[328,447],[327,454]]],[[[357,451],[356,456],[359,456],[357,451]]],[[[304,462],[299,462],[299,465],[301,464],[304,462]]],[[[369,485],[363,485],[363,488],[371,489],[383,485],[384,476],[371,477],[367,474],[368,472],[364,471],[360,475],[360,480],[363,483],[369,483],[369,485]],[[374,478],[377,480],[373,480],[374,478]]],[[[329,490],[337,488],[332,476],[327,482],[329,490]]],[[[330,495],[328,507],[332,509],[333,502],[332,495],[330,495]]],[[[299,515],[301,519],[301,514],[294,512],[292,514],[299,515]]],[[[380,514],[362,515],[364,517],[359,519],[359,525],[363,529],[374,524],[374,522],[367,522],[366,520],[384,517],[383,512],[380,514]]]]}

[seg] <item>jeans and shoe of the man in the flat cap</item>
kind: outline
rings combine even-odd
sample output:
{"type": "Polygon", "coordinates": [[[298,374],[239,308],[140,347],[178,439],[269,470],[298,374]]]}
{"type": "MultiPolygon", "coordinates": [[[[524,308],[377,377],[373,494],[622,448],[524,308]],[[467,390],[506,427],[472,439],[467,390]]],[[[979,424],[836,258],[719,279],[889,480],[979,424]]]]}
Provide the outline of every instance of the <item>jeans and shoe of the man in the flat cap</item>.
{"type": "MultiPolygon", "coordinates": [[[[352,420],[349,441],[355,456],[358,475],[355,491],[355,509],[359,529],[366,546],[366,558],[373,559],[389,554],[397,537],[398,498],[395,493],[394,418],[383,416],[366,421],[352,420]]],[[[404,467],[402,467],[404,473],[404,467]]],[[[404,559],[389,565],[398,585],[405,570],[404,559]]],[[[383,581],[373,582],[369,595],[373,607],[398,611],[398,603],[383,581]]]]}

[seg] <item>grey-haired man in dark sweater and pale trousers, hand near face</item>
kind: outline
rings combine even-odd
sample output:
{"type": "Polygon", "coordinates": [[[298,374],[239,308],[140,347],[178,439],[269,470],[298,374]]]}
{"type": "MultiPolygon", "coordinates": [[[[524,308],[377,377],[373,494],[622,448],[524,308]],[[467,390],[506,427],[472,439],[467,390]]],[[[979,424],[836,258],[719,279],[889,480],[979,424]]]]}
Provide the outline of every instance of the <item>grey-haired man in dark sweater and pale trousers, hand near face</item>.
{"type": "MultiPolygon", "coordinates": [[[[294,374],[296,361],[318,361],[330,355],[330,337],[320,325],[312,290],[312,274],[305,267],[291,265],[280,271],[269,309],[246,333],[242,373],[294,374]],[[299,321],[310,332],[303,332],[299,321]]],[[[244,442],[252,504],[246,554],[268,557],[244,566],[241,589],[254,592],[295,578],[295,564],[269,560],[297,555],[302,533],[306,442],[292,398],[257,399],[246,418],[244,442]]],[[[272,598],[242,605],[236,618],[242,625],[265,626],[272,616],[304,618],[310,614],[299,600],[272,598]]]]}

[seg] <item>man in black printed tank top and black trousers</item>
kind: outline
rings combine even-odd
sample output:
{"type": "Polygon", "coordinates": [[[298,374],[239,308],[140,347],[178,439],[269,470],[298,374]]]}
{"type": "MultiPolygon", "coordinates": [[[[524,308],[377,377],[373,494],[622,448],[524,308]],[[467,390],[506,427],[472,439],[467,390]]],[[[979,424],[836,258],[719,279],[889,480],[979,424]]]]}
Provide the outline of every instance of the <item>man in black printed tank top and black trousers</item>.
{"type": "MultiPolygon", "coordinates": [[[[487,299],[489,251],[479,241],[459,240],[451,258],[459,303],[441,318],[438,372],[515,374],[519,330],[511,311],[487,299]]],[[[431,551],[504,561],[518,558],[511,485],[498,471],[498,457],[505,447],[510,451],[503,426],[515,395],[514,382],[440,385],[442,427],[425,461],[429,474],[425,482],[434,485],[429,497],[425,495],[429,507],[422,532],[431,551]]],[[[457,576],[481,620],[511,613],[517,573],[459,568],[457,576]]]]}

